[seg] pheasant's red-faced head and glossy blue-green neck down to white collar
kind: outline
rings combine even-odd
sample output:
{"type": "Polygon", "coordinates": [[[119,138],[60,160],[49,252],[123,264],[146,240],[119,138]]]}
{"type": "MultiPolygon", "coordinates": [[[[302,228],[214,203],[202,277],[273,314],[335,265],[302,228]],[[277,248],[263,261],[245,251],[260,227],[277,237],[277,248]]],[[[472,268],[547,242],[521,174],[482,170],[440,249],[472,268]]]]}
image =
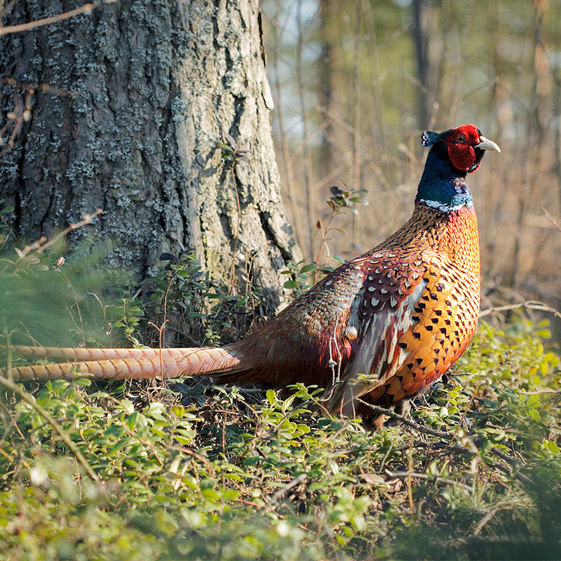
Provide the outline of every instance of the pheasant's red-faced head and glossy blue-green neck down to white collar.
{"type": "Polygon", "coordinates": [[[473,205],[465,177],[481,165],[486,150],[501,151],[475,125],[462,125],[433,133],[425,130],[424,146],[431,146],[416,201],[442,211],[473,205]]]}

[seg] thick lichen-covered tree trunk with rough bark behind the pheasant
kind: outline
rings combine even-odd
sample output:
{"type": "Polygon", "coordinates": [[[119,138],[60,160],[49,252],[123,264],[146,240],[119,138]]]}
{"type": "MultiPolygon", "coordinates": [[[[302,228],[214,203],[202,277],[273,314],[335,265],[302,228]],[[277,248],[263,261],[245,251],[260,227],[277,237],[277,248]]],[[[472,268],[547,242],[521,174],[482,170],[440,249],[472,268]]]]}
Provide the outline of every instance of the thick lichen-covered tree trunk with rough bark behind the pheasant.
{"type": "MultiPolygon", "coordinates": [[[[22,0],[4,25],[81,4],[22,0]]],[[[102,207],[72,247],[111,240],[109,269],[140,280],[162,252],[195,250],[224,283],[235,264],[278,292],[299,250],[280,201],[257,0],[104,4],[1,37],[0,76],[74,94],[35,93],[0,158],[18,234],[49,235],[102,207]]],[[[5,85],[2,115],[23,95],[5,85]]]]}

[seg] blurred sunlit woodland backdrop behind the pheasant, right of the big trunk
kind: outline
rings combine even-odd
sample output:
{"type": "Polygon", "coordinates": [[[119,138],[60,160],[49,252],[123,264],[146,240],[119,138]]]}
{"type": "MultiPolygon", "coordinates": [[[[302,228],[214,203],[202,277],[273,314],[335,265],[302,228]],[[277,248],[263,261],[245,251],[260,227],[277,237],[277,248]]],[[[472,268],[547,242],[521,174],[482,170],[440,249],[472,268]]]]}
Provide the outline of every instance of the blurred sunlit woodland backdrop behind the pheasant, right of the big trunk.
{"type": "Polygon", "coordinates": [[[370,205],[332,232],[345,258],[402,224],[425,129],[474,123],[501,155],[469,177],[482,307],[561,303],[561,1],[267,0],[266,53],[285,203],[304,256],[329,187],[370,205]],[[490,298],[490,299],[489,299],[490,298]]]}

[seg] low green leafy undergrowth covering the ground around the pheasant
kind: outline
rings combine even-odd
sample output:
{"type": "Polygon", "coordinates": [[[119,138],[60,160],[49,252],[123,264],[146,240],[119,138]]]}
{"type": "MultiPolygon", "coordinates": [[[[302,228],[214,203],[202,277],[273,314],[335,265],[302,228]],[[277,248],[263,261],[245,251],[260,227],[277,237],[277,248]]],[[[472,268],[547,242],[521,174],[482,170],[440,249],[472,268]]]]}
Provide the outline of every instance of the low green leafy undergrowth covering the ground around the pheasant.
{"type": "MultiPolygon", "coordinates": [[[[159,335],[168,323],[183,340],[216,344],[260,320],[259,292],[230,295],[191,257],[163,264],[148,303],[123,292],[104,305],[86,290],[95,276],[73,278],[56,252],[24,249],[2,252],[4,342],[41,331],[56,339],[56,311],[69,318],[59,331],[88,344],[140,345],[148,328],[159,335]]],[[[305,266],[295,290],[318,269],[305,266]]],[[[318,388],[304,386],[93,384],[79,373],[20,393],[5,386],[2,556],[558,558],[557,351],[546,321],[518,314],[502,329],[480,323],[454,372],[415,400],[411,419],[377,433],[325,417],[318,388]]]]}

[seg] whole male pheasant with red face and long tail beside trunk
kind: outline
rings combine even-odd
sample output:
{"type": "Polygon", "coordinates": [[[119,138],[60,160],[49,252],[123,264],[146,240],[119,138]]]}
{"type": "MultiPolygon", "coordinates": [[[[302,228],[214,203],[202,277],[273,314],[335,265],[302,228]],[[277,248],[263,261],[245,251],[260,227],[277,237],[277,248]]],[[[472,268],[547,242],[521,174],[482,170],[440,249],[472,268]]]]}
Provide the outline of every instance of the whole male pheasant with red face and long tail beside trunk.
{"type": "Polygon", "coordinates": [[[58,364],[13,367],[14,379],[210,376],[219,383],[325,388],[327,409],[383,417],[438,381],[471,341],[480,305],[478,224],[466,175],[499,146],[473,125],[433,133],[412,217],[386,241],[320,280],[234,344],[185,349],[19,346],[58,364]],[[74,370],[73,370],[74,369],[74,370]]]}

